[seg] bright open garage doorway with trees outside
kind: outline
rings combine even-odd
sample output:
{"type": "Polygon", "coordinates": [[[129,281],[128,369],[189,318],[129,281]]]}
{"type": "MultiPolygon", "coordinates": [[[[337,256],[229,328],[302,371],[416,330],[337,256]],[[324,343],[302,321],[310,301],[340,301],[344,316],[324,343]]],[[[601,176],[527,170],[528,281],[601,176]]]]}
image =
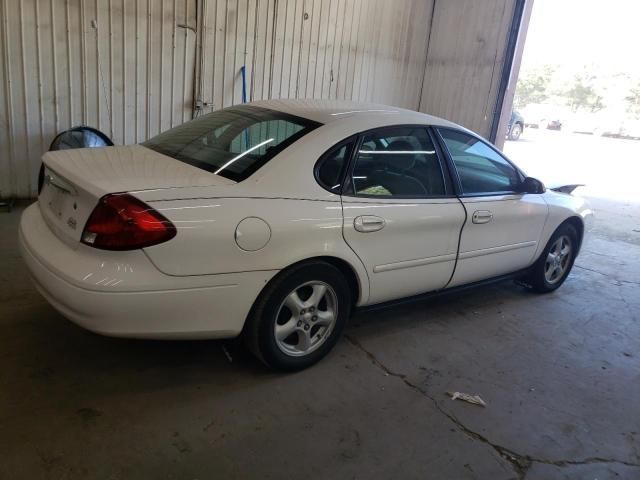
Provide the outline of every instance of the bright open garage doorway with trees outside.
{"type": "Polygon", "coordinates": [[[505,153],[597,212],[595,232],[640,244],[640,4],[536,0],[505,153]]]}

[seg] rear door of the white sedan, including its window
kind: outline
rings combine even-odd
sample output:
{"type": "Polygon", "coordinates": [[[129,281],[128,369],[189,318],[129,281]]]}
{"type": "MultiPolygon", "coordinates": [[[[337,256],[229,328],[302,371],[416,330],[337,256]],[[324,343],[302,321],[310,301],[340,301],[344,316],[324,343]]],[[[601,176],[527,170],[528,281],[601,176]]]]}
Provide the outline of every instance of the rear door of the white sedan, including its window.
{"type": "Polygon", "coordinates": [[[359,137],[342,190],[343,233],[366,266],[369,303],[444,287],[464,209],[424,126],[359,137]]]}

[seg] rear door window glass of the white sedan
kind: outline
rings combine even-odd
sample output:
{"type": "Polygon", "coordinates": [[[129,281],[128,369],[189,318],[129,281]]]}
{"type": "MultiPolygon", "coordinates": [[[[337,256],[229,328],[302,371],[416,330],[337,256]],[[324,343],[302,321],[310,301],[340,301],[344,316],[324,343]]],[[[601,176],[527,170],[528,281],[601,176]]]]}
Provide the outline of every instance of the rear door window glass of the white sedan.
{"type": "Polygon", "coordinates": [[[430,197],[445,194],[436,149],[425,127],[365,134],[351,176],[356,195],[430,197]]]}

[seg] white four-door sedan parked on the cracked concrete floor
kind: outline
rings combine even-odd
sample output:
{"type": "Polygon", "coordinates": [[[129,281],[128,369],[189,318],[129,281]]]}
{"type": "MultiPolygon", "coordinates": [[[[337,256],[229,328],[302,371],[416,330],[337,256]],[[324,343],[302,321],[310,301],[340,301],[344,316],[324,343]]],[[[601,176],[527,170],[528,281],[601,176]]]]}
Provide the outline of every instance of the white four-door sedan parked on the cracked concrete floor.
{"type": "Polygon", "coordinates": [[[54,308],[104,335],[242,334],[284,370],[354,308],[507,276],[558,288],[591,215],[458,125],[350,102],[255,102],[43,162],[20,245],[54,308]]]}

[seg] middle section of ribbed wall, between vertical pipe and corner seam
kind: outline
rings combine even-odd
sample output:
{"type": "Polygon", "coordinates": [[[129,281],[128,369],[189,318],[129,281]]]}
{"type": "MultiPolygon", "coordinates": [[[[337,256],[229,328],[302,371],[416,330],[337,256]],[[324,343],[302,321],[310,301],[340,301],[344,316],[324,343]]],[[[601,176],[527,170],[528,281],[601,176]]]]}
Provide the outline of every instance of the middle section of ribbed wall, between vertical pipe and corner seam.
{"type": "Polygon", "coordinates": [[[346,98],[418,108],[432,0],[203,0],[198,99],[346,98]]]}

